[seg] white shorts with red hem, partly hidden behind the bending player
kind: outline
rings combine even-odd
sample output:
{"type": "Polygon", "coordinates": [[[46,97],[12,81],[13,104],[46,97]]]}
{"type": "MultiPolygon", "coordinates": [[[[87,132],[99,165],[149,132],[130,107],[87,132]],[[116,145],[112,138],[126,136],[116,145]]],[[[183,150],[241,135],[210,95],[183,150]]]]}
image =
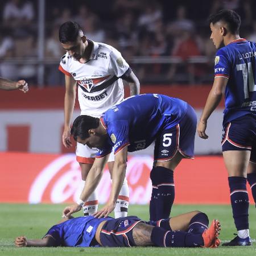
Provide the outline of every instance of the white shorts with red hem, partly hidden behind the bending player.
{"type": "MultiPolygon", "coordinates": [[[[97,155],[98,149],[97,148],[89,148],[86,145],[81,143],[76,143],[76,160],[79,163],[88,163],[93,164],[95,157],[97,155]]],[[[114,162],[115,156],[114,151],[112,151],[109,155],[108,162],[114,162]]]]}

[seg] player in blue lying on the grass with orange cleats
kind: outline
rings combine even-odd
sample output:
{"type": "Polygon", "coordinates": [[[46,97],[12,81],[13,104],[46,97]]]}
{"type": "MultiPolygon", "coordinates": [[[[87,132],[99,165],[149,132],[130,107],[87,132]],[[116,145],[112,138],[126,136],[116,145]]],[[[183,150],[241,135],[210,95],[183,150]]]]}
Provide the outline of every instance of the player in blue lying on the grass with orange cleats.
{"type": "Polygon", "coordinates": [[[16,237],[15,245],[70,247],[217,247],[220,222],[197,210],[159,221],[145,222],[136,216],[95,218],[65,217],[41,240],[16,237]]]}

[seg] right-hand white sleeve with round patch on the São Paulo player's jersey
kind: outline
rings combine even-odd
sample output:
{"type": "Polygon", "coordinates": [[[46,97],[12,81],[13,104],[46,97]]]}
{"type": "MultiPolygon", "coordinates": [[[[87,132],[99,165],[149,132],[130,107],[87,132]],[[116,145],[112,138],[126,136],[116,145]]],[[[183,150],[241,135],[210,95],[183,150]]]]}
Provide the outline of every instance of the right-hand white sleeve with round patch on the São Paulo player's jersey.
{"type": "Polygon", "coordinates": [[[113,48],[110,52],[110,69],[113,69],[115,76],[121,77],[127,71],[130,71],[129,64],[123,59],[120,52],[113,48]]]}

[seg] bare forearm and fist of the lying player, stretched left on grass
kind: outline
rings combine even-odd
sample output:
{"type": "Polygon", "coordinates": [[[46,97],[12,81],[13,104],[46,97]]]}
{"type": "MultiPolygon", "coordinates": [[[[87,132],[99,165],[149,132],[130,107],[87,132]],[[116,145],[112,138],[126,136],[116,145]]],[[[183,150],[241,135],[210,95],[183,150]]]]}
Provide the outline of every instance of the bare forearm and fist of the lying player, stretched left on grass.
{"type": "Polygon", "coordinates": [[[16,237],[14,241],[17,247],[51,247],[56,246],[55,240],[51,236],[43,239],[28,240],[24,236],[16,237]]]}

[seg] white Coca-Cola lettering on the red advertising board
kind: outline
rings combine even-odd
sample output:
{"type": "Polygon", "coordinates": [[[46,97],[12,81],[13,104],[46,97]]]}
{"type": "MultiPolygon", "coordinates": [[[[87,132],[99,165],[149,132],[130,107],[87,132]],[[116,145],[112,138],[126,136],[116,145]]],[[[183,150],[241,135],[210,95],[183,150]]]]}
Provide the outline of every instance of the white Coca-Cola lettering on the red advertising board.
{"type": "MultiPolygon", "coordinates": [[[[130,156],[126,177],[130,189],[131,204],[147,204],[151,196],[149,179],[153,160],[150,156],[130,156]]],[[[97,187],[98,200],[106,203],[112,183],[105,168],[97,187]]],[[[31,185],[28,201],[37,203],[64,203],[79,199],[83,183],[79,163],[74,154],[62,155],[49,163],[36,176],[31,185]]]]}

